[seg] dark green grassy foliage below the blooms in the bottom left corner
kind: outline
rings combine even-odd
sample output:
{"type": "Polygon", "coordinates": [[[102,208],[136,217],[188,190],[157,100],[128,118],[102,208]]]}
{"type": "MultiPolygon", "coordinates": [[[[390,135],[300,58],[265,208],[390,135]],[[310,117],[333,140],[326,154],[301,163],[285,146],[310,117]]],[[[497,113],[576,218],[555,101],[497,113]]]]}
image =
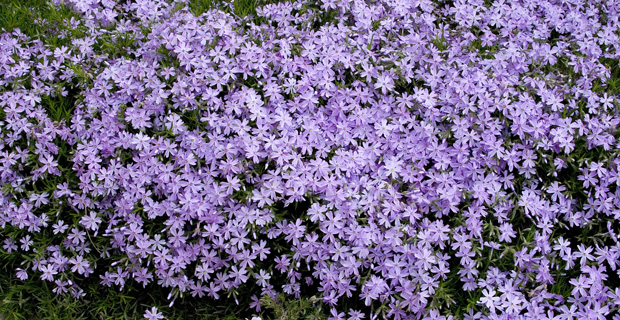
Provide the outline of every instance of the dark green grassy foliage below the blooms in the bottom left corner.
{"type": "MultiPolygon", "coordinates": [[[[5,269],[6,270],[6,269],[5,269]]],[[[0,275],[0,315],[13,319],[71,319],[117,320],[139,319],[145,310],[157,306],[166,319],[245,319],[251,314],[242,310],[232,299],[194,298],[186,295],[168,306],[166,292],[157,286],[128,283],[122,291],[99,284],[97,275],[91,275],[84,287],[86,296],[80,299],[57,295],[53,285],[39,279],[17,279],[13,272],[0,275]]],[[[86,279],[84,280],[86,281],[86,279]]],[[[317,319],[317,318],[308,318],[317,319]]]]}

